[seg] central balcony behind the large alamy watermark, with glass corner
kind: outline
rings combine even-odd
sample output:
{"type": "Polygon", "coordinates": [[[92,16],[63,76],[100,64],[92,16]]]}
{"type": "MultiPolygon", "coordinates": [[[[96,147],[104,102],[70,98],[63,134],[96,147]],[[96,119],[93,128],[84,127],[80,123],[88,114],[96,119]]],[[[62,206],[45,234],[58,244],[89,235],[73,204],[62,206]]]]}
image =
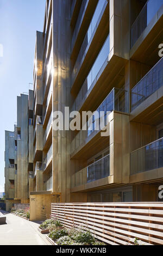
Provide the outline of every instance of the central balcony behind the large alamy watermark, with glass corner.
{"type": "MultiPolygon", "coordinates": [[[[109,95],[105,98],[102,104],[96,110],[98,113],[104,111],[104,126],[107,126],[108,129],[108,115],[112,111],[118,111],[122,113],[129,112],[129,102],[128,102],[128,92],[126,90],[114,88],[111,90],[109,95]]],[[[71,143],[71,158],[76,159],[80,156],[86,157],[89,159],[90,154],[96,155],[99,151],[103,150],[105,147],[105,141],[108,141],[108,136],[101,137],[102,127],[99,125],[99,118],[95,119],[95,116],[92,116],[92,125],[90,122],[87,122],[87,130],[81,130],[78,132],[77,136],[73,139],[71,143]],[[95,127],[100,129],[96,130],[95,127]],[[96,145],[98,144],[98,148],[96,145]],[[91,150],[88,150],[90,149],[91,150]]]]}

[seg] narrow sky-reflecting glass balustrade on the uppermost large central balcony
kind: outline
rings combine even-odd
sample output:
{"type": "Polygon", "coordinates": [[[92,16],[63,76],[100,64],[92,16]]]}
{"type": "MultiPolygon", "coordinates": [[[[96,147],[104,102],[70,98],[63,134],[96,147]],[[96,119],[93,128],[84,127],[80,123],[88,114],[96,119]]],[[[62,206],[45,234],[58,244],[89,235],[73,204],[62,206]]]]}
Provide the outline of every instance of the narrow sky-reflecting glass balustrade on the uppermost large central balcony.
{"type": "Polygon", "coordinates": [[[99,0],[98,1],[95,13],[92,17],[92,21],[91,21],[90,26],[89,26],[89,29],[87,30],[87,33],[86,33],[85,39],[83,41],[82,47],[80,48],[78,58],[76,60],[76,64],[74,65],[74,70],[73,70],[74,74],[76,74],[78,69],[79,69],[80,62],[81,62],[81,60],[84,56],[86,47],[90,42],[91,36],[94,32],[94,29],[95,28],[97,29],[97,21],[99,19],[99,16],[101,15],[101,12],[102,12],[102,9],[104,7],[105,2],[106,2],[106,0],[99,0]]]}

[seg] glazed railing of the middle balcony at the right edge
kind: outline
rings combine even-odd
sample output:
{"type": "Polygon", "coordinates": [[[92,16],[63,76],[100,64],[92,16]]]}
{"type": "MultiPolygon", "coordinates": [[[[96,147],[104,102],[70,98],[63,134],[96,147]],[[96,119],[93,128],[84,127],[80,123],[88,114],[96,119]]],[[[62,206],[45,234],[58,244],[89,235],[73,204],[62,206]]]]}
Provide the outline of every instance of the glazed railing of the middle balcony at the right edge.
{"type": "Polygon", "coordinates": [[[131,111],[163,86],[163,58],[131,90],[131,111]]]}

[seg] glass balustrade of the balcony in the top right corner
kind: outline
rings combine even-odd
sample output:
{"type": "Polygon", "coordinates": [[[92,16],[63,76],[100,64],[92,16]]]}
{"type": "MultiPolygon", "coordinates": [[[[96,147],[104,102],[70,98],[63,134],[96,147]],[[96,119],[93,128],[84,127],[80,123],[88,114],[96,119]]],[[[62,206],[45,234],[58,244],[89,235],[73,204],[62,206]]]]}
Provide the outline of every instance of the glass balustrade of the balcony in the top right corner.
{"type": "Polygon", "coordinates": [[[137,39],[143,33],[154,15],[163,5],[162,0],[148,0],[139,16],[137,16],[133,26],[131,27],[131,47],[134,46],[137,39]]]}

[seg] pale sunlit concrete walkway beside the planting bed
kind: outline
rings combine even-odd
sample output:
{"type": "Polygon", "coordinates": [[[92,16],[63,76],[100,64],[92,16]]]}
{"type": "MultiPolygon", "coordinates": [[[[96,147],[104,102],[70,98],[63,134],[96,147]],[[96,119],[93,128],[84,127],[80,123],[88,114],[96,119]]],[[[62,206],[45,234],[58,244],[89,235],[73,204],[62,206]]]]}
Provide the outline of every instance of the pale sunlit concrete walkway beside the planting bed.
{"type": "Polygon", "coordinates": [[[51,245],[41,234],[38,223],[1,211],[7,224],[0,225],[0,245],[51,245]]]}

